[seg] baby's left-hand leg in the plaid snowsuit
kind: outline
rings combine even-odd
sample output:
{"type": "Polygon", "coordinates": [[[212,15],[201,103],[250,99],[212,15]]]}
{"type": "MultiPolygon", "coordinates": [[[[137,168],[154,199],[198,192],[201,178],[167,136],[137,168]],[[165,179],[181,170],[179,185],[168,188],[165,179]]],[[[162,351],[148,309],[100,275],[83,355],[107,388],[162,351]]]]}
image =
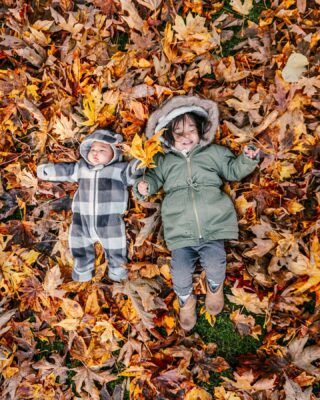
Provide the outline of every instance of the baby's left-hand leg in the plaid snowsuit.
{"type": "Polygon", "coordinates": [[[70,227],[69,247],[74,258],[72,279],[79,282],[89,281],[94,271],[94,242],[74,223],[70,227]]]}

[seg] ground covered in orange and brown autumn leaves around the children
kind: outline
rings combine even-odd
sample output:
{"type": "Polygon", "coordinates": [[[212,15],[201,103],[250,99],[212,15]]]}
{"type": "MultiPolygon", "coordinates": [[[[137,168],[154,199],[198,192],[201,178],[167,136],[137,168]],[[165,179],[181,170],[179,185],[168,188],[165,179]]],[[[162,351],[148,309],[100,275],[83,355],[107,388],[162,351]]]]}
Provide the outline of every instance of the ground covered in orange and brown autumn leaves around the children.
{"type": "Polygon", "coordinates": [[[2,399],[309,400],[319,396],[319,0],[3,0],[0,6],[2,399]],[[308,4],[306,4],[308,3],[308,4]],[[317,52],[318,51],[318,52],[317,52]],[[161,194],[127,223],[130,280],[71,281],[75,161],[97,127],[142,135],[172,95],[215,100],[217,142],[262,162],[226,183],[227,304],[177,325],[161,194]]]}

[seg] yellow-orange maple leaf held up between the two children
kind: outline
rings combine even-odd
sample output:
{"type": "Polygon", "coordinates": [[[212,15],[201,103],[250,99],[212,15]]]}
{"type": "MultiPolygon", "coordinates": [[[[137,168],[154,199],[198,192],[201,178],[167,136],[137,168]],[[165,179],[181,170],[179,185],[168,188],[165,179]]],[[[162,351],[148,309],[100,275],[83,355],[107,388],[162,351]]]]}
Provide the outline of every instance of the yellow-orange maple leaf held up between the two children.
{"type": "Polygon", "coordinates": [[[163,130],[159,131],[158,133],[153,135],[151,139],[148,140],[145,140],[144,137],[140,137],[139,135],[134,136],[129,154],[140,161],[138,168],[156,167],[153,157],[158,152],[163,153],[162,145],[159,140],[162,133],[163,130]]]}

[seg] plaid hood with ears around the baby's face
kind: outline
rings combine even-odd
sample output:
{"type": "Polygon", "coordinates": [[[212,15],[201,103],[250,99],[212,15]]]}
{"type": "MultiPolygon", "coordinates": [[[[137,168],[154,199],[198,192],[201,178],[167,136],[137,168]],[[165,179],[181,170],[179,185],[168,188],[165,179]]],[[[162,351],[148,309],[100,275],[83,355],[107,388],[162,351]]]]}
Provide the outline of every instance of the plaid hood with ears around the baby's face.
{"type": "Polygon", "coordinates": [[[104,143],[104,144],[109,144],[113,150],[113,157],[112,157],[112,160],[110,160],[108,162],[108,165],[112,164],[115,161],[121,161],[122,153],[116,147],[116,144],[121,143],[122,141],[123,141],[123,137],[119,133],[114,133],[107,129],[97,129],[91,135],[89,135],[85,139],[83,139],[82,143],[80,144],[81,157],[89,165],[92,165],[90,163],[90,161],[88,160],[88,153],[91,149],[93,142],[100,142],[100,143],[104,143]]]}

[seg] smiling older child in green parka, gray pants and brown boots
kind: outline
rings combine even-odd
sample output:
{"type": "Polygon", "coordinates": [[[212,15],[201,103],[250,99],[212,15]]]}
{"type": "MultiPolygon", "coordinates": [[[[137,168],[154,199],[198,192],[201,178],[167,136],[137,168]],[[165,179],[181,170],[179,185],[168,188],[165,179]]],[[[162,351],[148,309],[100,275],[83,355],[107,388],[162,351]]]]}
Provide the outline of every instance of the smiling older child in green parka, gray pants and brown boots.
{"type": "Polygon", "coordinates": [[[172,251],[173,288],[180,303],[180,325],[196,323],[192,275],[199,260],[206,272],[205,305],[211,315],[224,306],[226,273],[224,241],[238,238],[237,216],[230,197],[221,191],[222,179],[236,181],[258,164],[259,150],[245,147],[235,157],[226,147],[212,144],[218,126],[218,107],[211,100],[176,96],[155,111],[147,124],[151,137],[165,128],[165,154],[134,185],[137,198],[164,189],[161,208],[164,238],[172,251]]]}

